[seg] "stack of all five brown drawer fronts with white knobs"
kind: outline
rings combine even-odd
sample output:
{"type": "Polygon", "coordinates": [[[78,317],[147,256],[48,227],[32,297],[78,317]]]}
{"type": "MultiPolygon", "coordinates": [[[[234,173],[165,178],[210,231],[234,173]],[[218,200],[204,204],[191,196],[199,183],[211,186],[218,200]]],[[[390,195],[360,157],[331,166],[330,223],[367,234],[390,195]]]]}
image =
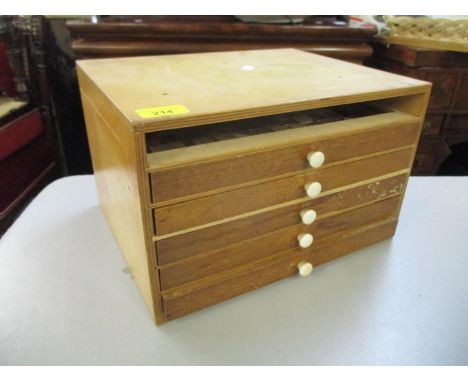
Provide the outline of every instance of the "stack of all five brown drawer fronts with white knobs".
{"type": "Polygon", "coordinates": [[[388,112],[149,155],[166,319],[393,235],[419,126],[388,112]]]}

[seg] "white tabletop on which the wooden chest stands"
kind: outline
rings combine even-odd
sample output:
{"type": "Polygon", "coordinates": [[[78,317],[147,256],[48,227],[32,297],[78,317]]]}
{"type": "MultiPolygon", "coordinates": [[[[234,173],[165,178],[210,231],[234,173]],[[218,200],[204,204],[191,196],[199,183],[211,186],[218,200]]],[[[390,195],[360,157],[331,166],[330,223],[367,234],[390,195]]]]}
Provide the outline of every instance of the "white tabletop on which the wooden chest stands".
{"type": "Polygon", "coordinates": [[[395,237],[156,327],[92,176],[0,241],[0,364],[468,364],[468,178],[411,178],[395,237]]]}

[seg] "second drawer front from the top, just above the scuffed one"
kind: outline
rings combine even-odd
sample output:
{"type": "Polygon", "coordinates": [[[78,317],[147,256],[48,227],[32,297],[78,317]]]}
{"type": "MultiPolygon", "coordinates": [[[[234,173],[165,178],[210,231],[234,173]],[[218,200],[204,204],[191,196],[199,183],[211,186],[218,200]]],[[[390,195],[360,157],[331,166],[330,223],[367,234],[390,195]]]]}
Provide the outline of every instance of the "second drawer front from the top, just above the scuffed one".
{"type": "Polygon", "coordinates": [[[307,198],[304,186],[319,182],[322,193],[407,169],[413,148],[338,166],[309,171],[274,181],[222,192],[154,210],[158,236],[216,222],[244,213],[307,198]]]}

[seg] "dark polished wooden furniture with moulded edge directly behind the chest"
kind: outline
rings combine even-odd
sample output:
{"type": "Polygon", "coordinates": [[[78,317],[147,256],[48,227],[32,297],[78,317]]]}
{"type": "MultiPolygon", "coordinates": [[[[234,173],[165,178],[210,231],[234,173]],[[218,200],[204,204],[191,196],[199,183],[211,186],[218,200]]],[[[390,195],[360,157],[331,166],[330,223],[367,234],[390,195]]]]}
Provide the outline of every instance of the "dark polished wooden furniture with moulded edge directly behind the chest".
{"type": "Polygon", "coordinates": [[[71,20],[67,27],[79,58],[291,47],[362,63],[372,54],[369,43],[376,33],[333,18],[284,25],[245,23],[234,16],[114,16],[71,20]]]}

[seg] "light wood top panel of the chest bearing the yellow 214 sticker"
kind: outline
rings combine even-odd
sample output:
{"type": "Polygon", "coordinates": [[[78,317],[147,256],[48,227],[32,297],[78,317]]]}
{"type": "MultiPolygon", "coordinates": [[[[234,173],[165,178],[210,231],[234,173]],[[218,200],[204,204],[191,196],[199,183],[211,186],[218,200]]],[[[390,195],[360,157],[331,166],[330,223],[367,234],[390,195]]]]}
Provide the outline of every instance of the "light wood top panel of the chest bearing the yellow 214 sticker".
{"type": "Polygon", "coordinates": [[[136,128],[164,130],[420,93],[429,84],[296,49],[81,60],[136,128]],[[185,114],[141,118],[138,109],[185,114]]]}

